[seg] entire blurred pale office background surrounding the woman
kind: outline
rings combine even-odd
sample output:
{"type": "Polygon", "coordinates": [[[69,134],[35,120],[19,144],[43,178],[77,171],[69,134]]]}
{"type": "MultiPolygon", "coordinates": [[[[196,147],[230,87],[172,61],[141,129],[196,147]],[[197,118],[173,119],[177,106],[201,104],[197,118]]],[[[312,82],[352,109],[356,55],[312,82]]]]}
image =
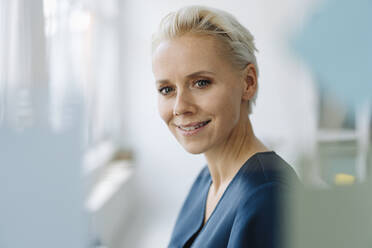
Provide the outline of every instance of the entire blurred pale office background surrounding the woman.
{"type": "Polygon", "coordinates": [[[291,247],[372,246],[371,1],[1,0],[0,247],[166,247],[206,161],[158,116],[151,34],[190,4],[255,36],[255,133],[305,185],[291,247]]]}

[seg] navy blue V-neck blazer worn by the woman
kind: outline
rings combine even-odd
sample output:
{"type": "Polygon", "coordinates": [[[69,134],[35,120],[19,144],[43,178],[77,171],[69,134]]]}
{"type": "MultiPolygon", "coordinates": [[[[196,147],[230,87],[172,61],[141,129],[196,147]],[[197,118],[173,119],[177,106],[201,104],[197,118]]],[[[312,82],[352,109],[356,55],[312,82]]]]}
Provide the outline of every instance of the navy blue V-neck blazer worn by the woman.
{"type": "Polygon", "coordinates": [[[256,153],[239,169],[203,226],[212,183],[205,166],[181,208],[168,247],[282,247],[281,206],[296,180],[291,166],[274,151],[256,153]]]}

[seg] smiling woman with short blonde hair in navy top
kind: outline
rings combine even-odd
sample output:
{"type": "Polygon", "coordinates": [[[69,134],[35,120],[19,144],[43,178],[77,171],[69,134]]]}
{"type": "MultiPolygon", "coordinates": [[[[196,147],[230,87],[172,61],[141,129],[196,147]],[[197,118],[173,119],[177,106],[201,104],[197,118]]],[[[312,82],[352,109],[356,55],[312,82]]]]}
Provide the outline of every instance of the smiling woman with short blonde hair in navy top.
{"type": "Polygon", "coordinates": [[[254,134],[253,36],[230,14],[191,6],[153,37],[161,118],[207,160],[179,213],[169,247],[278,247],[278,201],[291,167],[254,134]],[[279,196],[279,197],[278,197],[279,196]]]}

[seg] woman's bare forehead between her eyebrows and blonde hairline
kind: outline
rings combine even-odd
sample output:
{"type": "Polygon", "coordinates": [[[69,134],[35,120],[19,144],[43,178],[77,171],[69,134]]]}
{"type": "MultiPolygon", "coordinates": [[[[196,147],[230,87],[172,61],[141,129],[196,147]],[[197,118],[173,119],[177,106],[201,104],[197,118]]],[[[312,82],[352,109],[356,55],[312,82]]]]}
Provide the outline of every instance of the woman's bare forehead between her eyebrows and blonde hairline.
{"type": "Polygon", "coordinates": [[[226,66],[222,45],[213,36],[187,34],[160,42],[152,57],[155,77],[189,74],[206,70],[217,72],[226,66]]]}

